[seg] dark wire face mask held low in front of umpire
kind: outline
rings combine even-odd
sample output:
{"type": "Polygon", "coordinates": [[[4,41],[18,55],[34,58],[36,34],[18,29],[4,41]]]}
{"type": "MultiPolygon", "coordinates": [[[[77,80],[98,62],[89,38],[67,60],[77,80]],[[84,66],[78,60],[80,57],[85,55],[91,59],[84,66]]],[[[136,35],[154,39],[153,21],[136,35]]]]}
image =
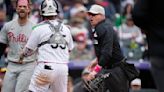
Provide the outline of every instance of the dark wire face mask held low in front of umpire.
{"type": "Polygon", "coordinates": [[[106,74],[100,74],[97,75],[95,79],[87,81],[83,80],[84,82],[84,87],[89,91],[89,92],[102,92],[103,90],[103,81],[108,78],[110,73],[106,74]]]}

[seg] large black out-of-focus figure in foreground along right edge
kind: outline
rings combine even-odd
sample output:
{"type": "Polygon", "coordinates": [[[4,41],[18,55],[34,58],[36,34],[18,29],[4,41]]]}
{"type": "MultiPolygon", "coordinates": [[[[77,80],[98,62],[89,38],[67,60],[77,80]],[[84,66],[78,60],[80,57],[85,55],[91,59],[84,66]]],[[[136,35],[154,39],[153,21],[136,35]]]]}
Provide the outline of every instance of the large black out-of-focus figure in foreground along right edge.
{"type": "Polygon", "coordinates": [[[146,33],[151,71],[159,92],[164,92],[163,10],[163,0],[137,0],[133,10],[134,23],[146,33]]]}

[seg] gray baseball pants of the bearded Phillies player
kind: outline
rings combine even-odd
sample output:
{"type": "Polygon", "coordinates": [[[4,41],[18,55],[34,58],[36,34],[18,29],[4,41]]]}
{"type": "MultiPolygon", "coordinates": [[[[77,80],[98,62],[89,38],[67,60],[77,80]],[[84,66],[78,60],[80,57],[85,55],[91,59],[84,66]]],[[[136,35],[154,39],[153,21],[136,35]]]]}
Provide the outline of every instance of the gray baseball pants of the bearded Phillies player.
{"type": "Polygon", "coordinates": [[[9,62],[1,92],[28,92],[35,62],[16,64],[9,62]]]}

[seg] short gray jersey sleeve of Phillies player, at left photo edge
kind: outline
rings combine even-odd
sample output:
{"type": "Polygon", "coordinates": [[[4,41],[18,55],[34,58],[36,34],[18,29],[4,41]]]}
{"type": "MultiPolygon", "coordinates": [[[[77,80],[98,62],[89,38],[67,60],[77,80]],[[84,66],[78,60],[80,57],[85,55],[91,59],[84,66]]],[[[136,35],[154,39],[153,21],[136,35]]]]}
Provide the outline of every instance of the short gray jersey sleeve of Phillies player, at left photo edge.
{"type": "Polygon", "coordinates": [[[0,42],[7,44],[8,39],[7,39],[7,28],[6,28],[6,24],[2,27],[1,31],[0,31],[0,42]]]}

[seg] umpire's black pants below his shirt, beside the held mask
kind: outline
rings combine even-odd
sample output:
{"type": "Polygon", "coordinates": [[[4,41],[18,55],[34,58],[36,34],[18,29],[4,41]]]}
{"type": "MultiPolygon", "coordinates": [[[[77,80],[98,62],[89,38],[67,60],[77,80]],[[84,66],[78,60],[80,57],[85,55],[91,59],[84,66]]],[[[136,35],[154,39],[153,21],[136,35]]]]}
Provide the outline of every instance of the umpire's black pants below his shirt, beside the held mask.
{"type": "Polygon", "coordinates": [[[129,92],[129,81],[123,70],[116,66],[112,69],[102,69],[102,73],[110,73],[109,77],[104,81],[103,92],[129,92]]]}

